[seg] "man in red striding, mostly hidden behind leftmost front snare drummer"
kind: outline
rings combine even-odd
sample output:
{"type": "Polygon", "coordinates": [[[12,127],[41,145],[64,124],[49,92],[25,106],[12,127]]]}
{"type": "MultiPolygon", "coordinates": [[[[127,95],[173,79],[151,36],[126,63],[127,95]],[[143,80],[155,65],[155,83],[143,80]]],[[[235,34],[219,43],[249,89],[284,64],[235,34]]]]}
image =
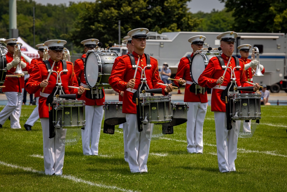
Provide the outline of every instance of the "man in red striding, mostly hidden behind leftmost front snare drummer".
{"type": "MultiPolygon", "coordinates": [[[[39,54],[39,58],[34,58],[32,59],[30,66],[29,66],[29,70],[28,73],[30,74],[32,72],[32,69],[34,67],[34,65],[39,62],[39,61],[43,61],[43,56],[44,56],[44,49],[48,49],[48,47],[44,44],[38,44],[36,45],[36,47],[38,47],[38,54],[39,54]]],[[[24,124],[24,128],[27,131],[31,131],[32,130],[32,126],[34,126],[34,124],[36,123],[36,121],[40,118],[39,117],[39,106],[38,106],[38,102],[39,102],[39,97],[40,97],[40,90],[38,90],[35,93],[35,99],[36,99],[36,107],[35,109],[32,111],[30,117],[27,119],[26,123],[24,124]]]]}

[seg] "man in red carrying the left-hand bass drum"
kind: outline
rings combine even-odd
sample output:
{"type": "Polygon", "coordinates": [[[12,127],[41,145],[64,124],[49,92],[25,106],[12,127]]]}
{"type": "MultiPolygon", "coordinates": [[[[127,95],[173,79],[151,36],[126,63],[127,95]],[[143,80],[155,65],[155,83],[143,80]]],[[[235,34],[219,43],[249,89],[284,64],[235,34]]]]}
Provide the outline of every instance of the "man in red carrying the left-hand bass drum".
{"type": "MultiPolygon", "coordinates": [[[[94,49],[98,42],[98,39],[86,39],[81,43],[85,47],[85,52],[87,52],[88,50],[94,49]]],[[[90,88],[84,76],[84,58],[75,60],[74,71],[77,79],[80,79],[80,85],[84,88],[90,88]]],[[[90,91],[86,91],[86,94],[84,94],[81,99],[86,101],[86,126],[84,130],[82,129],[83,153],[84,155],[98,155],[100,132],[104,115],[104,90],[93,88],[90,91]]]]}

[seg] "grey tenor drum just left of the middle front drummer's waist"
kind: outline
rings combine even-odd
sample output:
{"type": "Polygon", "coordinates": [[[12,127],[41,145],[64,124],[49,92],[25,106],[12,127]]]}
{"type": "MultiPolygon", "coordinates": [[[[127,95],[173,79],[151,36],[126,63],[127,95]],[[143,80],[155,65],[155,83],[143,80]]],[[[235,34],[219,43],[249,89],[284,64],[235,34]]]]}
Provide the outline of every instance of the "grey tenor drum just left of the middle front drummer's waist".
{"type": "Polygon", "coordinates": [[[104,102],[104,122],[107,125],[119,125],[127,122],[123,113],[123,102],[104,102]]]}

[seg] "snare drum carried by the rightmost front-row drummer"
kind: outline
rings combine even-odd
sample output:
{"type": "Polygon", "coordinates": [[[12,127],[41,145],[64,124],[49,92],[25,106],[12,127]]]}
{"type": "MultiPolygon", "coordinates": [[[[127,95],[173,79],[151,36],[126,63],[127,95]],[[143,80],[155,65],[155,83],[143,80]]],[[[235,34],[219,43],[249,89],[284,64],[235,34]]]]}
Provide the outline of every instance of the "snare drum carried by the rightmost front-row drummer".
{"type": "Polygon", "coordinates": [[[260,94],[241,93],[229,96],[230,118],[233,120],[261,119],[260,94]]]}

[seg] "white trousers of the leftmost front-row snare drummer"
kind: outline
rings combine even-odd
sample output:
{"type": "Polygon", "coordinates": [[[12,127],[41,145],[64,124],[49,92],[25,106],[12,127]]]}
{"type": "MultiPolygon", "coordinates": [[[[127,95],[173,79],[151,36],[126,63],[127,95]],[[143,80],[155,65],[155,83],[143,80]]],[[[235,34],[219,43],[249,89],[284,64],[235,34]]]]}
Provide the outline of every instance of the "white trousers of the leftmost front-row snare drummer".
{"type": "MultiPolygon", "coordinates": [[[[46,175],[62,175],[65,157],[65,145],[59,139],[49,138],[49,118],[40,118],[43,132],[43,155],[46,175]]],[[[58,136],[65,137],[66,129],[57,129],[58,136]]]]}

